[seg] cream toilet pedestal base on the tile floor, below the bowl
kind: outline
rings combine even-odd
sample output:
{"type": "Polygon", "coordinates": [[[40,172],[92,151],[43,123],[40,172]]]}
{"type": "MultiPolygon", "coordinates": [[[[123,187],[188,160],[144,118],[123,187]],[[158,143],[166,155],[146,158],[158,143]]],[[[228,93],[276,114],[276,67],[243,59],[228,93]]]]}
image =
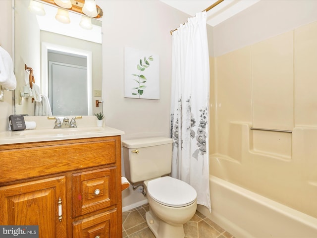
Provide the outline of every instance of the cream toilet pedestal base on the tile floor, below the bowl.
{"type": "Polygon", "coordinates": [[[156,238],[184,238],[183,225],[172,226],[157,217],[150,207],[145,214],[147,225],[156,238]]]}

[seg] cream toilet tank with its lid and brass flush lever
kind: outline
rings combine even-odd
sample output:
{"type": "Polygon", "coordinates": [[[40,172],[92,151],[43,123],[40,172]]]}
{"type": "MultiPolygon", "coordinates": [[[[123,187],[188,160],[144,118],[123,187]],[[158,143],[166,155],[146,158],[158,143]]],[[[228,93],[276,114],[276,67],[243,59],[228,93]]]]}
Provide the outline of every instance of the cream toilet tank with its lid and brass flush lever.
{"type": "Polygon", "coordinates": [[[165,137],[122,141],[125,177],[134,183],[169,174],[172,145],[165,137]]]}

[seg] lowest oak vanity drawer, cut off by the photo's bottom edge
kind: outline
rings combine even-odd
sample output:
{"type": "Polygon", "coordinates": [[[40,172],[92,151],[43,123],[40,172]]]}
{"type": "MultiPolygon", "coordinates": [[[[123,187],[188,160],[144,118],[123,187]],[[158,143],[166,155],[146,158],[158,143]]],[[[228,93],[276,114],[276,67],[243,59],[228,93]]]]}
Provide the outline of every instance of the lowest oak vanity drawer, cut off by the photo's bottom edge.
{"type": "Polygon", "coordinates": [[[74,238],[114,238],[117,237],[116,210],[100,213],[73,222],[74,238]]]}

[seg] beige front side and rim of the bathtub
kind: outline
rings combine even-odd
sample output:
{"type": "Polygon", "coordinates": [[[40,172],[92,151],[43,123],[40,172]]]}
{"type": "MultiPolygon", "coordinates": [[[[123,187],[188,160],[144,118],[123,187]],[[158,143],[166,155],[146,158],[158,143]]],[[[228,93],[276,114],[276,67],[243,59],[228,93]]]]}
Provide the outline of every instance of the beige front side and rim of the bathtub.
{"type": "Polygon", "coordinates": [[[210,189],[211,213],[197,210],[236,238],[317,238],[314,217],[215,176],[210,189]]]}

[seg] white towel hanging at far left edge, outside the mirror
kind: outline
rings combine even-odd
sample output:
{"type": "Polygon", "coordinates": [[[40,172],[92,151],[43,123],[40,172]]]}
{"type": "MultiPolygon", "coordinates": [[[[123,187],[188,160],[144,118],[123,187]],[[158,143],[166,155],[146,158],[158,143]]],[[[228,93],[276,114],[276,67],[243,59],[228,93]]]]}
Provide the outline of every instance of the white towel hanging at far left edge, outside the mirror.
{"type": "Polygon", "coordinates": [[[0,84],[8,89],[14,90],[16,88],[16,79],[13,73],[12,59],[0,46],[0,84]]]}

